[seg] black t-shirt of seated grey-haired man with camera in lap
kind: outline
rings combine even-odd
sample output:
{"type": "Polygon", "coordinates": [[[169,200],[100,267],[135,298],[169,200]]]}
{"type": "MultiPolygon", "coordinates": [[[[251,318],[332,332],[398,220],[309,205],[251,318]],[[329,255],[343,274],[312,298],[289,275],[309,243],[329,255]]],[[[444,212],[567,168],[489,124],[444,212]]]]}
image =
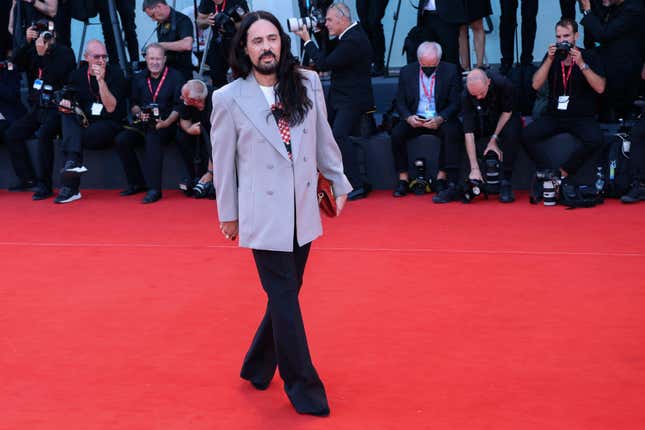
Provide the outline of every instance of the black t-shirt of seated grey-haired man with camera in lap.
{"type": "Polygon", "coordinates": [[[163,76],[164,72],[161,72],[161,75],[157,79],[151,77],[149,72],[139,73],[132,79],[131,94],[133,106],[144,107],[150,103],[157,103],[162,120],[168,118],[168,115],[173,110],[179,112],[179,97],[181,96],[181,87],[184,83],[184,78],[181,73],[171,67],[168,67],[168,73],[165,79],[163,76]],[[150,79],[150,86],[148,86],[148,79],[150,79]],[[162,79],[163,84],[160,88],[159,85],[162,79]],[[152,88],[152,92],[150,92],[150,88],[152,88]],[[157,93],[157,90],[159,90],[159,93],[157,93]],[[154,94],[157,94],[157,98],[153,100],[154,94]]]}

